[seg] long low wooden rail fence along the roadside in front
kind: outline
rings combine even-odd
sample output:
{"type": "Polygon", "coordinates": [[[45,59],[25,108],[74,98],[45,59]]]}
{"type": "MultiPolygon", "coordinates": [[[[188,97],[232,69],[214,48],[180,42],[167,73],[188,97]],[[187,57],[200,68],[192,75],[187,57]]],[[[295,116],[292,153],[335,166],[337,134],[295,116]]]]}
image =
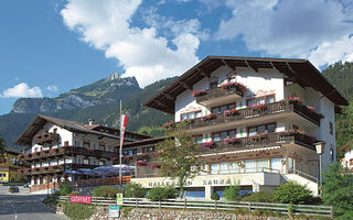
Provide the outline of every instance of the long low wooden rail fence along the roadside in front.
{"type": "MultiPolygon", "coordinates": [[[[60,196],[61,201],[69,201],[69,196],[60,196]]],[[[116,200],[104,197],[92,197],[92,205],[110,206],[116,205],[116,200]]],[[[206,209],[206,210],[226,210],[234,211],[238,208],[254,210],[271,210],[281,215],[303,215],[314,217],[327,217],[333,219],[332,206],[311,206],[311,205],[290,205],[290,204],[269,204],[250,201],[211,201],[211,200],[188,200],[168,199],[161,201],[151,201],[145,198],[124,198],[124,207],[135,208],[173,208],[173,209],[206,209]]]]}

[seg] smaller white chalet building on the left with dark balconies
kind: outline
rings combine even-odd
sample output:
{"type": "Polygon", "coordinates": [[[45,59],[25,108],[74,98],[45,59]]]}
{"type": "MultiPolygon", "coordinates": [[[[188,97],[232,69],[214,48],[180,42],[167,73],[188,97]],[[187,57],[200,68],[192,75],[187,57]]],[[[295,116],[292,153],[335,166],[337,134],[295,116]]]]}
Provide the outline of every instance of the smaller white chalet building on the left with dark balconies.
{"type": "MultiPolygon", "coordinates": [[[[125,141],[149,136],[126,132],[125,141]]],[[[30,164],[21,172],[31,178],[31,191],[57,187],[61,182],[78,180],[81,168],[118,163],[119,130],[38,116],[15,141],[26,146],[19,157],[30,164]]]]}

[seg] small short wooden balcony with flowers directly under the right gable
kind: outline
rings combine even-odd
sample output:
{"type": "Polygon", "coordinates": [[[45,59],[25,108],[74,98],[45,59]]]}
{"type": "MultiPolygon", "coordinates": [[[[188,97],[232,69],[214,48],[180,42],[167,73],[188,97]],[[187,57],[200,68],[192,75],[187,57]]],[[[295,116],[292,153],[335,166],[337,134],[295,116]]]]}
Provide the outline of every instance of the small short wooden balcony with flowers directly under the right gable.
{"type": "Polygon", "coordinates": [[[213,103],[229,103],[244,96],[244,88],[239,86],[226,86],[208,89],[195,96],[197,103],[202,106],[212,106],[213,103]]]}

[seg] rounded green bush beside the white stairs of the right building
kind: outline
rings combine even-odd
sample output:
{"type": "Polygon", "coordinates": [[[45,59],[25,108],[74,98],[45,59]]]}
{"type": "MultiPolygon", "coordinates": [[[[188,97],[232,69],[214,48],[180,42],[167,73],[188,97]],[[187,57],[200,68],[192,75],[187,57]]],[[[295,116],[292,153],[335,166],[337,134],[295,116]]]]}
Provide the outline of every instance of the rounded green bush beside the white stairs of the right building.
{"type": "Polygon", "coordinates": [[[281,204],[310,204],[313,200],[311,191],[296,182],[288,182],[277,187],[274,199],[281,204]]]}

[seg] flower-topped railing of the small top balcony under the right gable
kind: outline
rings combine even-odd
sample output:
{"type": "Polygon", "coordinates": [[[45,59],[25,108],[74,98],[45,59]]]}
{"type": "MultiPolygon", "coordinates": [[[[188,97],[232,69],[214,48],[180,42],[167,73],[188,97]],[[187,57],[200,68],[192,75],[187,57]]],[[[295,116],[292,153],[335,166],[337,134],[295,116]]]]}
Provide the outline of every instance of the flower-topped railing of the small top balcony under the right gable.
{"type": "Polygon", "coordinates": [[[199,95],[195,97],[196,102],[200,103],[202,101],[205,100],[210,100],[210,99],[214,99],[217,97],[224,97],[224,96],[228,96],[228,95],[238,95],[239,97],[244,96],[244,91],[239,88],[239,87],[229,87],[229,88],[213,88],[213,89],[208,89],[206,90],[203,95],[199,95]]]}

